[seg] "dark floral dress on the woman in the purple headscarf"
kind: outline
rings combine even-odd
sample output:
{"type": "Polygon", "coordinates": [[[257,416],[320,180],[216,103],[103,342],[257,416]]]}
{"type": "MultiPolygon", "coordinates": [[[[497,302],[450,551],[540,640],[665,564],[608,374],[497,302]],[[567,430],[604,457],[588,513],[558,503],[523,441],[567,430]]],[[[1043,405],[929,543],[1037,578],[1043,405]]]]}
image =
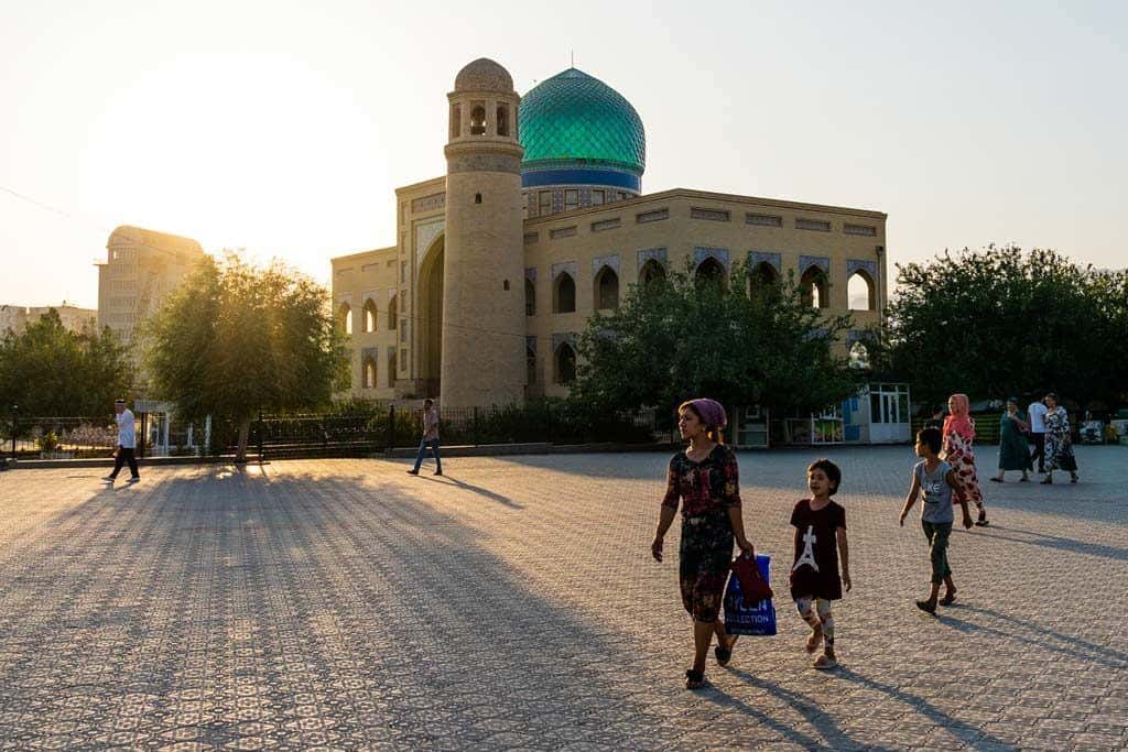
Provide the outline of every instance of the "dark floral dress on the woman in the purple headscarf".
{"type": "Polygon", "coordinates": [[[696,621],[716,621],[732,563],[729,508],[740,506],[740,470],[731,449],[717,444],[700,462],[685,451],[670,460],[663,506],[681,499],[678,581],[681,604],[696,621]]]}

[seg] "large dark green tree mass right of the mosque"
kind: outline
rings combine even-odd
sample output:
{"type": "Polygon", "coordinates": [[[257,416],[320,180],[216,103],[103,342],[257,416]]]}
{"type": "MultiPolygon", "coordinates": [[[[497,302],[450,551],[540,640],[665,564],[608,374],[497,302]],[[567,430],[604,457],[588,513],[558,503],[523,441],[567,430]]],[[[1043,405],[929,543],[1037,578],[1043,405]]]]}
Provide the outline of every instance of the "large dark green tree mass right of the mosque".
{"type": "Polygon", "coordinates": [[[988,246],[898,265],[898,282],[881,360],[916,397],[1052,389],[1082,404],[1125,398],[1125,272],[988,246]]]}

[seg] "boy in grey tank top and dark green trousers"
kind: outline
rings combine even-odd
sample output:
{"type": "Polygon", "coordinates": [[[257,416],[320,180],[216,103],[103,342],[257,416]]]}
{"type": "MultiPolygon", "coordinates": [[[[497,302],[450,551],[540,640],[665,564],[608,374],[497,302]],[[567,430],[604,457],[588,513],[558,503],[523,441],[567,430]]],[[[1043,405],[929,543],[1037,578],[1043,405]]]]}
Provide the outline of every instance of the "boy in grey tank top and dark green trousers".
{"type": "Polygon", "coordinates": [[[948,462],[940,459],[940,449],[944,443],[938,428],[925,428],[917,432],[916,454],[922,458],[913,467],[913,485],[909,495],[901,507],[901,527],[905,517],[916,504],[917,496],[924,490],[924,504],[920,510],[920,527],[928,540],[928,558],[932,561],[932,591],[928,599],[917,601],[917,608],[928,613],[936,612],[936,603],[950,605],[955,600],[955,583],[952,582],[952,569],[948,566],[948,539],[952,534],[952,523],[955,514],[953,499],[961,499],[963,510],[963,527],[971,527],[971,513],[968,503],[960,492],[962,485],[955,471],[948,462]],[[945,586],[944,598],[940,596],[940,583],[945,586]],[[937,600],[938,599],[938,600],[937,600]]]}

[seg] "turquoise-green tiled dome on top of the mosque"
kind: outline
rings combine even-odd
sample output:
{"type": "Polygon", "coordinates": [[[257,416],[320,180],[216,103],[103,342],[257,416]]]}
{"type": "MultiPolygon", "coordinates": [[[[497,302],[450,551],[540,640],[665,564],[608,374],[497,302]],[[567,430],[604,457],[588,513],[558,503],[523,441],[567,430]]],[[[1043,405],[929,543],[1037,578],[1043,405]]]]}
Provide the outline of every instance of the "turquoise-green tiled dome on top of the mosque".
{"type": "Polygon", "coordinates": [[[646,133],[623,95],[570,68],[521,98],[518,110],[526,169],[610,167],[642,176],[646,133]]]}

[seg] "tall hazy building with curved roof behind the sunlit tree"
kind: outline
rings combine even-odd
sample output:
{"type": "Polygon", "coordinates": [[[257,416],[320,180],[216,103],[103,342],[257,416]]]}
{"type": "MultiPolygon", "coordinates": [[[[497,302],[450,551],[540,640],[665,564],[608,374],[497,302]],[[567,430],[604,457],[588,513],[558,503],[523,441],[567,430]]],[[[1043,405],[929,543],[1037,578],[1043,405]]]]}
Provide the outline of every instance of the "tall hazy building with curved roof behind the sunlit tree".
{"type": "Polygon", "coordinates": [[[98,328],[108,326],[130,342],[138,322],[157,310],[203,256],[191,238],[127,224],[114,230],[106,262],[97,264],[98,328]]]}

